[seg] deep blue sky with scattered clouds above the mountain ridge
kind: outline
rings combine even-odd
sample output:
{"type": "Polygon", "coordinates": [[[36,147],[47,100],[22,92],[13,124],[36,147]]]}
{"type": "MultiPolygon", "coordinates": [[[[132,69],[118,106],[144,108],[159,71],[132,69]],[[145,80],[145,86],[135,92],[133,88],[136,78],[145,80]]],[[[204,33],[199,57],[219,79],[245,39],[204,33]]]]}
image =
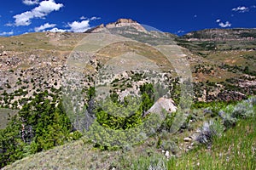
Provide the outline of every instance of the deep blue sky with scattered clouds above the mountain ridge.
{"type": "Polygon", "coordinates": [[[256,0],[9,0],[0,6],[0,36],[82,32],[119,18],[176,34],[206,28],[255,28],[256,0]]]}

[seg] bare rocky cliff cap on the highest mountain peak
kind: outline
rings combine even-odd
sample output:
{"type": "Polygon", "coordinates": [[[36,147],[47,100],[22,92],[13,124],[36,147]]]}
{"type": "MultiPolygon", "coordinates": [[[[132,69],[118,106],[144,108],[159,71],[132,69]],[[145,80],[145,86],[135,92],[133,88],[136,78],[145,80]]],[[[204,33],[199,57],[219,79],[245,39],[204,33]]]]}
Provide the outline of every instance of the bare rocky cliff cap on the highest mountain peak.
{"type": "Polygon", "coordinates": [[[141,26],[137,21],[131,20],[131,19],[119,19],[116,22],[109,23],[108,25],[104,26],[103,24],[100,26],[96,26],[94,28],[91,28],[88,31],[85,31],[85,33],[96,33],[96,32],[102,32],[106,29],[113,29],[113,28],[120,28],[125,26],[131,26],[135,28],[137,31],[147,32],[146,29],[141,26]]]}

